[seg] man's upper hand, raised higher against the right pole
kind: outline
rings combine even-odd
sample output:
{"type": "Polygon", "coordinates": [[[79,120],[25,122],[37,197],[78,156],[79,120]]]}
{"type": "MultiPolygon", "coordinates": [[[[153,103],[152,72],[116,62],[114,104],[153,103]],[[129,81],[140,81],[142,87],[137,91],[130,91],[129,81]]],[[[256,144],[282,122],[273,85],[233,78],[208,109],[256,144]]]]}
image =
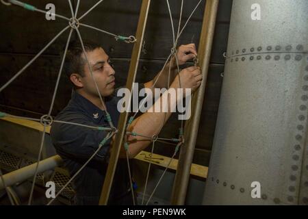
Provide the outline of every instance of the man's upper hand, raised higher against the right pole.
{"type": "MultiPolygon", "coordinates": [[[[177,61],[179,62],[179,66],[185,64],[188,60],[192,60],[196,55],[197,52],[194,43],[181,45],[177,49],[177,61]]],[[[171,63],[173,68],[177,67],[177,61],[175,57],[172,57],[171,63]]]]}

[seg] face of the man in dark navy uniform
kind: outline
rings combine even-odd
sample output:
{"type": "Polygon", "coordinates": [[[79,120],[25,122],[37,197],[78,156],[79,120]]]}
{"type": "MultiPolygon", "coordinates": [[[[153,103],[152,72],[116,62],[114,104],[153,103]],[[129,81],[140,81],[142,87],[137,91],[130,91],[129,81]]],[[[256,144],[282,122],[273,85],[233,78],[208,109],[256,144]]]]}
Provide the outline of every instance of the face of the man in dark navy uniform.
{"type": "MultiPolygon", "coordinates": [[[[81,55],[85,59],[84,54],[81,55]]],[[[114,68],[110,66],[109,56],[105,53],[103,48],[97,48],[93,51],[87,52],[88,61],[92,69],[92,74],[97,82],[97,87],[101,96],[110,96],[114,92],[114,68]]],[[[92,96],[99,96],[97,88],[91,76],[88,63],[84,65],[84,75],[82,78],[84,90],[92,96]]]]}

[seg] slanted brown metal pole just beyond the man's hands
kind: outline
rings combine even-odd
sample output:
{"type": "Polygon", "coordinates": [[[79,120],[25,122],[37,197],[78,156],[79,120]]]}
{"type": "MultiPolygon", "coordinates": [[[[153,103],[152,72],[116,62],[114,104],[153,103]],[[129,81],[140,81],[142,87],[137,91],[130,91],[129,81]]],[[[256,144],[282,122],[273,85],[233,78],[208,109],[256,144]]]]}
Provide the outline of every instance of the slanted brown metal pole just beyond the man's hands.
{"type": "Polygon", "coordinates": [[[213,42],[214,29],[216,24],[216,14],[219,0],[207,0],[203,16],[200,42],[198,46],[198,59],[203,73],[203,81],[192,98],[192,114],[190,120],[185,123],[184,139],[185,143],[181,147],[179,163],[175,182],[173,183],[171,203],[172,205],[184,205],[188,182],[190,179],[190,168],[194,156],[194,146],[198,134],[199,120],[203,105],[207,73],[209,69],[209,57],[211,55],[211,45],[213,42]]]}

